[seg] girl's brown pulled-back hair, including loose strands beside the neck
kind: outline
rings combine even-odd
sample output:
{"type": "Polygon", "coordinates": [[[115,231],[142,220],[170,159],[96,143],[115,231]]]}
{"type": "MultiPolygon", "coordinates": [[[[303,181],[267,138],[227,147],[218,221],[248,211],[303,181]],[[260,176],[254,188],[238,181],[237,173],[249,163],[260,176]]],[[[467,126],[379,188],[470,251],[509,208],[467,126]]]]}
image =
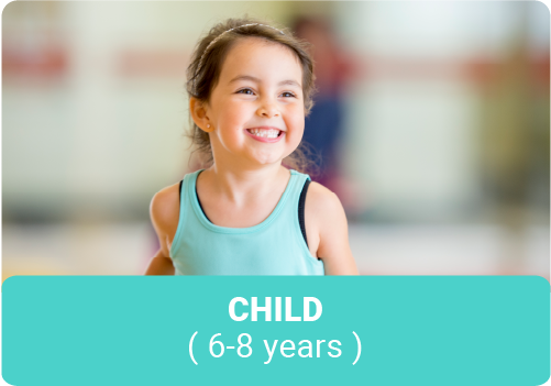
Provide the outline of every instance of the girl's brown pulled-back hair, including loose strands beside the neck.
{"type": "MultiPolygon", "coordinates": [[[[288,47],[298,58],[302,67],[302,93],[305,98],[305,115],[313,106],[315,92],[313,60],[308,52],[308,43],[299,41],[287,30],[278,30],[267,23],[252,19],[228,19],[218,23],[199,40],[187,68],[187,92],[189,97],[208,102],[210,95],[218,84],[222,64],[232,46],[241,38],[260,37],[288,47]]],[[[212,163],[212,148],[209,134],[199,129],[191,120],[190,132],[194,153],[202,155],[206,164],[212,163]],[[205,159],[206,158],[206,159],[205,159]]],[[[304,142],[295,152],[284,159],[284,164],[299,172],[316,173],[315,162],[307,156],[312,150],[304,142]]]]}

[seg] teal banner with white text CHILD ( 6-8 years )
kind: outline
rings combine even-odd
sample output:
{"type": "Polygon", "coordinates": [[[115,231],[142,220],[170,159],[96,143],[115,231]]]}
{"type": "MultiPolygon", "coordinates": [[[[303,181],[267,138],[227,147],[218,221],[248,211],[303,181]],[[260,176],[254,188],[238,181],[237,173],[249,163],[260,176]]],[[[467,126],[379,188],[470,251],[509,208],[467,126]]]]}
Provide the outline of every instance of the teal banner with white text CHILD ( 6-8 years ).
{"type": "Polygon", "coordinates": [[[538,276],[16,276],[2,378],[36,385],[514,385],[551,378],[538,276]]]}

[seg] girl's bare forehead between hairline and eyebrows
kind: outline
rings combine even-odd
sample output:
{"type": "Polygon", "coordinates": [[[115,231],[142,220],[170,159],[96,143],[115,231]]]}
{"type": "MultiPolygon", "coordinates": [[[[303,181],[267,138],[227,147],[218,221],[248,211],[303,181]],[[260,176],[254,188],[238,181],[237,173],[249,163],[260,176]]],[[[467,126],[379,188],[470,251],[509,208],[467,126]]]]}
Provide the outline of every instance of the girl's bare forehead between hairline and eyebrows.
{"type": "Polygon", "coordinates": [[[229,81],[240,75],[252,75],[266,80],[290,77],[302,84],[302,67],[297,55],[283,44],[261,37],[241,38],[228,53],[220,80],[229,81]]]}

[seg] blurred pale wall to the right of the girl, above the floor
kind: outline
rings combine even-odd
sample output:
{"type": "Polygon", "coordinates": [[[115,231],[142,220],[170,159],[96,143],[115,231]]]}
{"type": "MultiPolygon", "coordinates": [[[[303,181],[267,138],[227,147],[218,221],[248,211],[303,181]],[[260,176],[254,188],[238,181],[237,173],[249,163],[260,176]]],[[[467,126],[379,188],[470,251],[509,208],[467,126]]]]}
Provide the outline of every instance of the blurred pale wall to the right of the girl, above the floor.
{"type": "Polygon", "coordinates": [[[509,189],[497,180],[505,178],[527,191],[517,205],[549,223],[547,5],[524,0],[335,5],[343,43],[364,60],[364,77],[350,89],[343,146],[345,173],[356,178],[366,201],[364,219],[496,221],[496,206],[509,189]]]}

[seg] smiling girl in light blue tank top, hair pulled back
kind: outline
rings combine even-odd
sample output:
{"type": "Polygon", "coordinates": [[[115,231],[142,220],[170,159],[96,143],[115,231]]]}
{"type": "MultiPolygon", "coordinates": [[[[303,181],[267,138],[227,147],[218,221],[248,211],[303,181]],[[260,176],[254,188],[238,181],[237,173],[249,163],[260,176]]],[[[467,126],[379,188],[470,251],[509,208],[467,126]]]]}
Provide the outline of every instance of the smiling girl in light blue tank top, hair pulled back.
{"type": "Polygon", "coordinates": [[[282,165],[298,165],[312,104],[304,43],[230,19],[197,45],[187,91],[210,167],[153,197],[161,249],[146,275],[357,274],[337,196],[282,165]]]}

